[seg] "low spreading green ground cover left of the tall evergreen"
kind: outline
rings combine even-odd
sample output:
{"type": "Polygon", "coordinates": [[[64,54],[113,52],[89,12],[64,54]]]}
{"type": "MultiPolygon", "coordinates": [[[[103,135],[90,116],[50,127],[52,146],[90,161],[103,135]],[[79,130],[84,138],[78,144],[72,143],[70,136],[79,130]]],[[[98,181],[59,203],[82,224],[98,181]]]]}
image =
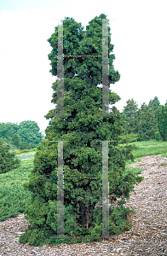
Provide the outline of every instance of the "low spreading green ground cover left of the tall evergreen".
{"type": "Polygon", "coordinates": [[[32,193],[23,183],[29,180],[32,168],[33,159],[22,160],[19,168],[0,174],[0,221],[24,212],[30,203],[32,193]]]}

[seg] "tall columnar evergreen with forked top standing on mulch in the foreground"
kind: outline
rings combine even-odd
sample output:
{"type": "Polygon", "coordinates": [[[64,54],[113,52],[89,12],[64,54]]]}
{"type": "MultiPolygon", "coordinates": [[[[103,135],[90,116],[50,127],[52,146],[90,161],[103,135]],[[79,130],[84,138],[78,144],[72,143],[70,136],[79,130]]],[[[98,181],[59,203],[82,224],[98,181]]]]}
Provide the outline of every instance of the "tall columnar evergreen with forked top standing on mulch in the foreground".
{"type": "MultiPolygon", "coordinates": [[[[86,31],[81,23],[72,18],[63,21],[64,55],[102,55],[102,20],[100,15],[89,21],[86,31]]],[[[51,73],[57,75],[57,36],[58,27],[49,38],[52,51],[49,54],[51,73]]],[[[109,32],[109,84],[120,78],[114,70],[112,61],[113,45],[109,32]]],[[[47,140],[37,148],[34,168],[31,171],[26,188],[32,191],[32,202],[24,212],[32,226],[20,236],[20,242],[33,245],[61,242],[93,241],[101,236],[101,211],[95,209],[102,201],[102,142],[108,143],[109,195],[111,202],[119,201],[118,208],[110,207],[109,234],[119,234],[129,230],[127,221],[129,208],[124,208],[125,198],[142,177],[125,170],[127,160],[133,160],[131,146],[118,146],[118,137],[123,133],[123,121],[117,108],[113,107],[108,116],[101,114],[101,57],[64,56],[64,116],[57,116],[57,106],[46,115],[50,119],[45,130],[47,140]],[[68,114],[68,116],[67,116],[68,114]],[[100,116],[95,116],[100,114],[100,116]],[[57,170],[58,142],[63,143],[64,160],[64,231],[66,236],[83,238],[50,237],[57,235],[57,170]],[[100,142],[97,142],[100,141],[100,142]],[[83,178],[82,178],[83,177],[83,178]],[[96,177],[96,178],[95,178],[96,177]]],[[[57,103],[57,80],[53,84],[52,102],[57,103]]],[[[118,102],[120,97],[108,90],[109,104],[118,102]]],[[[103,111],[105,111],[103,109],[103,111]]]]}

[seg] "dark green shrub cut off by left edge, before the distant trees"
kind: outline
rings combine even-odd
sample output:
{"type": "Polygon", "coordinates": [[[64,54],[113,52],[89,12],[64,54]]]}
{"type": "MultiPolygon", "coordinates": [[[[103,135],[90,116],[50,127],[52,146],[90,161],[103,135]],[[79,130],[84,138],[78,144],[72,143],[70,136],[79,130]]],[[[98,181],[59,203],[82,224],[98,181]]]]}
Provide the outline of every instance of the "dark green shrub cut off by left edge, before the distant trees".
{"type": "Polygon", "coordinates": [[[20,160],[15,158],[13,152],[9,152],[10,146],[0,138],[0,173],[12,171],[20,166],[20,160]]]}

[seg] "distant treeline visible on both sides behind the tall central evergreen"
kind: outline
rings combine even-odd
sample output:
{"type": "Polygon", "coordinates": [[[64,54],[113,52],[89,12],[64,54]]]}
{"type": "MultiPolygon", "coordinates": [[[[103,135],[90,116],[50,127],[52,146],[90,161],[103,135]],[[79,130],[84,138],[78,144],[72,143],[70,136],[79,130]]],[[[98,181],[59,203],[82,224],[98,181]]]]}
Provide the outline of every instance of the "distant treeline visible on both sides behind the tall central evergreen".
{"type": "MultiPolygon", "coordinates": [[[[150,100],[148,105],[143,102],[138,108],[135,100],[129,99],[121,113],[123,134],[120,143],[133,143],[152,139],[167,141],[167,101],[160,105],[158,97],[150,100]]],[[[22,121],[20,125],[14,123],[0,123],[0,138],[22,149],[37,148],[45,139],[39,131],[35,121],[22,121]]]]}

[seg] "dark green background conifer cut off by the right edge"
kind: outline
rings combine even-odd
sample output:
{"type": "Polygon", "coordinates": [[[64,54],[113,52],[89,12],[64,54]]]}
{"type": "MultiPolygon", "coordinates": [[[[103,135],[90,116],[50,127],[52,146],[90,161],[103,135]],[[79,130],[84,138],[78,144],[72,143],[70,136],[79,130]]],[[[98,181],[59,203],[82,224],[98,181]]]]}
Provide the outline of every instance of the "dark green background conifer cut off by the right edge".
{"type": "Polygon", "coordinates": [[[161,139],[167,141],[167,107],[158,107],[158,131],[161,139]]]}

